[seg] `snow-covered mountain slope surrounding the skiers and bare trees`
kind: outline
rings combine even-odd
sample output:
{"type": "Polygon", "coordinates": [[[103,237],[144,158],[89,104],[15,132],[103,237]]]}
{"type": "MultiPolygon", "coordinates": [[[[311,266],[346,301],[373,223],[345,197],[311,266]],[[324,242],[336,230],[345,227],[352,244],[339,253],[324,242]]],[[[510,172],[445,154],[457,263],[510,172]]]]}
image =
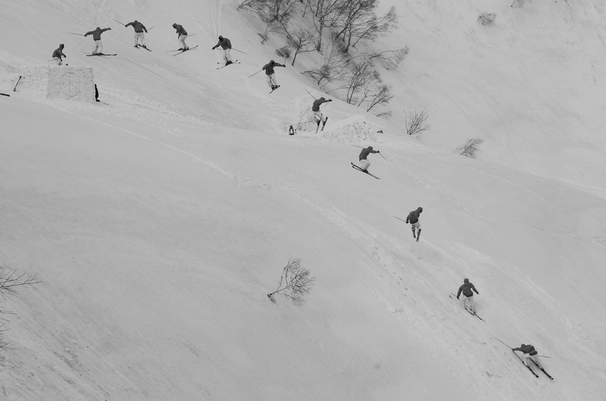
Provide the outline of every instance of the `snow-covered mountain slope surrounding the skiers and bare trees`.
{"type": "Polygon", "coordinates": [[[305,89],[333,98],[300,74],[321,56],[268,94],[248,76],[284,39],[238,2],[0,1],[0,264],[41,280],[2,304],[0,399],[606,399],[606,5],[390,2],[398,30],[360,47],[410,47],[381,70],[391,120],[336,100],[322,135],[288,136],[305,89]],[[114,19],[153,26],[153,51],[114,19]],[[196,50],[165,51],[173,22],[196,50]],[[68,33],[96,26],[118,56],[68,33]],[[216,70],[218,35],[241,64],[216,70]],[[108,105],[12,91],[59,43],[108,105]],[[471,137],[477,159],[452,152],[471,137]],[[381,150],[380,180],[352,145],[381,150]],[[393,216],[419,206],[417,243],[393,216]],[[316,277],[302,308],[266,296],[291,257],[316,277]],[[464,277],[485,322],[448,297],[464,277]]]}

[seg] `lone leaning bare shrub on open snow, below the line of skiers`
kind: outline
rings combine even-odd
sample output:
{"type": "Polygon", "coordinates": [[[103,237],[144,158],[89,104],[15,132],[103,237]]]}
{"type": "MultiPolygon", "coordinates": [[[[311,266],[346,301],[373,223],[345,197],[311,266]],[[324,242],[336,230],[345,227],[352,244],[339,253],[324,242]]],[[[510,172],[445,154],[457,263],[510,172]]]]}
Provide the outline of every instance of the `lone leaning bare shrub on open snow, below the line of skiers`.
{"type": "Polygon", "coordinates": [[[282,294],[298,307],[302,307],[315,280],[316,277],[311,277],[310,271],[301,266],[301,259],[289,259],[282,270],[278,288],[267,294],[267,297],[276,303],[275,294],[282,294]]]}

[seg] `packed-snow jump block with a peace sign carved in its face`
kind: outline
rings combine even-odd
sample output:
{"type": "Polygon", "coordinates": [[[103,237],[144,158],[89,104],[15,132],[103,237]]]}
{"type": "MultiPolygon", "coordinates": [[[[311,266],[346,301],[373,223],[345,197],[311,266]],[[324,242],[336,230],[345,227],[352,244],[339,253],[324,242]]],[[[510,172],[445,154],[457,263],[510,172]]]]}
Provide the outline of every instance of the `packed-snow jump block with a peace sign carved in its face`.
{"type": "Polygon", "coordinates": [[[17,91],[25,98],[59,98],[94,103],[93,68],[36,65],[21,74],[17,91]]]}

